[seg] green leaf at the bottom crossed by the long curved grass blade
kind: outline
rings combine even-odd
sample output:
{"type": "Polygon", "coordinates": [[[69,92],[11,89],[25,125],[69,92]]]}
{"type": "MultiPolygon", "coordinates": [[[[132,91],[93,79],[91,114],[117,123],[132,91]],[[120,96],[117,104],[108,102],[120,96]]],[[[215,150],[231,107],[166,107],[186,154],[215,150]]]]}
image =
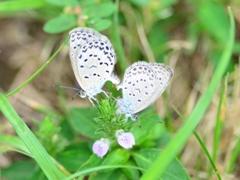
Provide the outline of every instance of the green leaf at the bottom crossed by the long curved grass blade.
{"type": "MultiPolygon", "coordinates": [[[[140,151],[134,153],[133,157],[140,168],[147,170],[162,152],[163,151],[159,149],[141,149],[140,151]]],[[[177,159],[172,161],[160,178],[164,180],[179,180],[179,178],[181,180],[190,179],[186,170],[177,159]]]]}

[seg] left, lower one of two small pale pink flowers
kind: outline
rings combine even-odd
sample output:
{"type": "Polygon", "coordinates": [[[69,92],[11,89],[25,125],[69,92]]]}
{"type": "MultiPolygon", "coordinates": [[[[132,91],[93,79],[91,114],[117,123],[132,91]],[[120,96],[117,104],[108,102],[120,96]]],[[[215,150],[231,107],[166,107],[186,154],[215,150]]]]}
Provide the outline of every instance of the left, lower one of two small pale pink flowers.
{"type": "Polygon", "coordinates": [[[108,139],[102,138],[93,144],[93,153],[102,158],[105,154],[107,154],[109,145],[110,141],[108,139]]]}

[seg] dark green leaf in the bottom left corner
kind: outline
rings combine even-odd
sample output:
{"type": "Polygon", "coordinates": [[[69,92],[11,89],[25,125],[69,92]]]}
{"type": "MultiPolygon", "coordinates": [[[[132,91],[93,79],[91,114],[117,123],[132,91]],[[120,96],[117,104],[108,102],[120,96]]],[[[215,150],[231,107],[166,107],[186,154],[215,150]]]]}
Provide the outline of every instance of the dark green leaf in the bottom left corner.
{"type": "Polygon", "coordinates": [[[9,167],[1,170],[2,177],[6,179],[14,180],[33,180],[36,173],[40,174],[42,178],[37,178],[38,180],[46,179],[43,172],[40,170],[39,166],[33,161],[18,161],[11,164],[9,167]]]}

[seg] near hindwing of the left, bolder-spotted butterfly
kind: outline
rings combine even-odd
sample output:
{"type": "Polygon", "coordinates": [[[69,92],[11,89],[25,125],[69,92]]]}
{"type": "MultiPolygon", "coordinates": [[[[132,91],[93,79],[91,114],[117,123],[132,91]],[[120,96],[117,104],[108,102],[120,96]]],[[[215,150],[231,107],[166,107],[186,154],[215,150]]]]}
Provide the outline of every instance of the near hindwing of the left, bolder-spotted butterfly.
{"type": "Polygon", "coordinates": [[[113,74],[115,63],[116,55],[109,41],[93,40],[83,45],[77,56],[77,72],[89,96],[100,93],[108,80],[119,83],[113,74]]]}

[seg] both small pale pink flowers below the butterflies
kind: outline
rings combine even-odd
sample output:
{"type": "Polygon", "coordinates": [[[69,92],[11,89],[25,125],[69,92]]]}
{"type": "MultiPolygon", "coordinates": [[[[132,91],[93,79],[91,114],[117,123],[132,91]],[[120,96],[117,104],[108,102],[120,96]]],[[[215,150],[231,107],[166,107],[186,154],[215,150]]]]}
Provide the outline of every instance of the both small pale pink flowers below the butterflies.
{"type": "MultiPolygon", "coordinates": [[[[133,145],[135,145],[133,134],[130,132],[124,132],[122,129],[116,131],[116,138],[118,144],[125,149],[130,149],[133,147],[133,145]]],[[[107,138],[102,138],[93,144],[92,149],[94,154],[102,158],[108,152],[109,147],[110,140],[107,138]]]]}

